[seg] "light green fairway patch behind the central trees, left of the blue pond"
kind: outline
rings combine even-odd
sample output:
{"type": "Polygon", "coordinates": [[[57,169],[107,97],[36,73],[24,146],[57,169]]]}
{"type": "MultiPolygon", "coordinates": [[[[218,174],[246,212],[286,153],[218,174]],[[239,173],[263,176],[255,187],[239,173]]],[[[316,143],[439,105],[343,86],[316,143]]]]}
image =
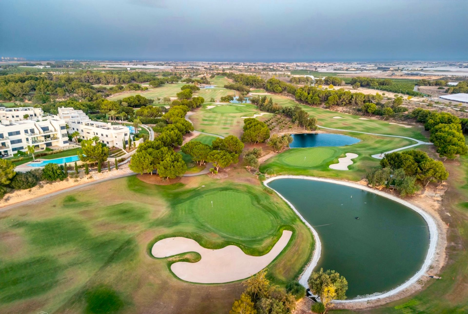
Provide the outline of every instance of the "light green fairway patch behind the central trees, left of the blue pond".
{"type": "MultiPolygon", "coordinates": [[[[259,112],[256,106],[252,104],[226,104],[207,109],[209,106],[213,105],[210,103],[204,104],[200,110],[190,116],[190,120],[192,120],[195,130],[222,136],[233,134],[240,137],[244,123],[242,117],[252,117],[259,112]]],[[[259,118],[264,119],[270,116],[272,114],[263,115],[259,118]]]]}

